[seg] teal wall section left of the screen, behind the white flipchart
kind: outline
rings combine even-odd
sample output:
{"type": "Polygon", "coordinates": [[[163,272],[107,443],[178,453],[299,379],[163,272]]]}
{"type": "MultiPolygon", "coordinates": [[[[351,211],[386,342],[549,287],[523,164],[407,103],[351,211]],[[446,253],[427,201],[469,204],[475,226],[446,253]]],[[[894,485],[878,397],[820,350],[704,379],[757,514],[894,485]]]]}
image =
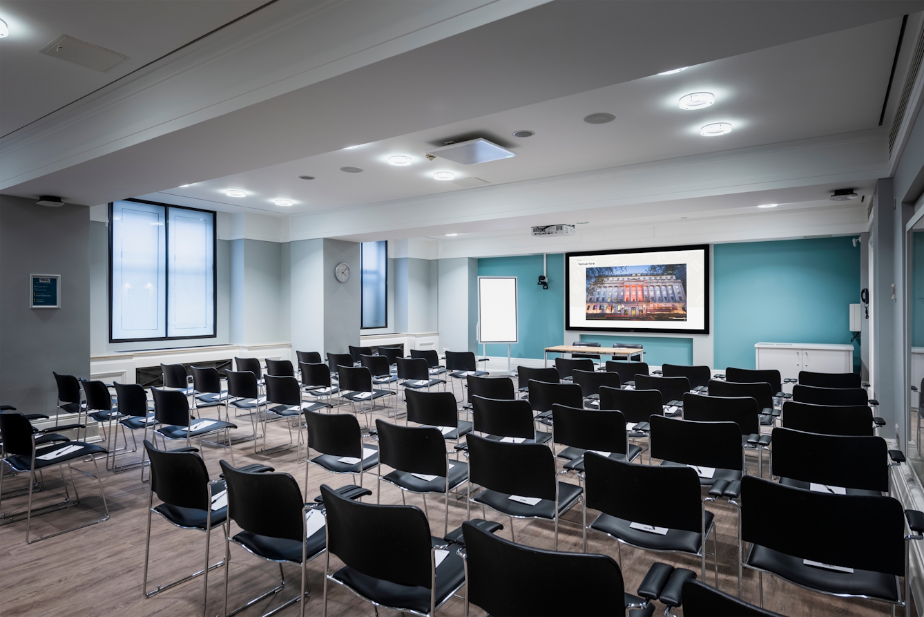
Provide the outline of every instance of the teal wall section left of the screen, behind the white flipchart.
{"type": "MultiPolygon", "coordinates": [[[[561,345],[565,325],[565,255],[550,254],[546,268],[549,289],[537,285],[542,255],[489,257],[478,260],[480,277],[517,277],[519,342],[510,346],[514,358],[542,358],[546,347],[561,345]]],[[[480,352],[480,345],[479,345],[480,352]]],[[[505,356],[506,345],[488,345],[488,355],[505,356]]]]}

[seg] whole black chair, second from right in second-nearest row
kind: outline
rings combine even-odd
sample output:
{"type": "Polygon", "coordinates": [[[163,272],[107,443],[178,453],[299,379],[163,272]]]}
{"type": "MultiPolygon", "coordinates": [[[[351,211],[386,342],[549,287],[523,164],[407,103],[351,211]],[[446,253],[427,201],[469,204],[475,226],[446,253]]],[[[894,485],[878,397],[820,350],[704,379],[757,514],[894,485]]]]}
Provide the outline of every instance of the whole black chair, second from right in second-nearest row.
{"type": "MultiPolygon", "coordinates": [[[[656,416],[652,420],[674,422],[656,416]]],[[[677,421],[682,422],[682,421],[677,421]]],[[[654,426],[652,425],[652,436],[654,426]]],[[[651,440],[652,444],[654,439],[651,440]]],[[[584,457],[584,543],[587,532],[596,531],[613,537],[619,561],[620,544],[637,549],[681,552],[696,555],[700,576],[706,577],[706,541],[712,535],[715,580],[719,580],[716,530],[712,512],[699,492],[697,473],[688,467],[652,467],[614,461],[594,452],[584,457]],[[638,499],[639,495],[670,495],[670,507],[659,500],[638,499]],[[587,509],[600,515],[587,524],[587,509]]]]}

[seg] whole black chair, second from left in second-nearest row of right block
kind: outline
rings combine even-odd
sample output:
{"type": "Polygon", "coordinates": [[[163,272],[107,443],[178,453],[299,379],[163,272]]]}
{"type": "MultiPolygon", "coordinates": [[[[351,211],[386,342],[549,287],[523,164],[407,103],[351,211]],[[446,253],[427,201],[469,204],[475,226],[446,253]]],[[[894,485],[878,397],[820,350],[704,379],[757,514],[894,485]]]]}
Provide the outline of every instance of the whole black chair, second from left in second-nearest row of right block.
{"type": "MultiPolygon", "coordinates": [[[[444,394],[451,396],[449,392],[444,394]]],[[[379,431],[380,485],[376,503],[382,499],[383,481],[401,489],[402,503],[405,503],[405,492],[421,495],[424,512],[427,511],[427,493],[443,494],[445,536],[449,533],[449,491],[468,479],[468,464],[449,460],[443,435],[435,426],[397,426],[378,419],[375,427],[379,431]],[[383,464],[395,471],[382,475],[383,464]]]]}

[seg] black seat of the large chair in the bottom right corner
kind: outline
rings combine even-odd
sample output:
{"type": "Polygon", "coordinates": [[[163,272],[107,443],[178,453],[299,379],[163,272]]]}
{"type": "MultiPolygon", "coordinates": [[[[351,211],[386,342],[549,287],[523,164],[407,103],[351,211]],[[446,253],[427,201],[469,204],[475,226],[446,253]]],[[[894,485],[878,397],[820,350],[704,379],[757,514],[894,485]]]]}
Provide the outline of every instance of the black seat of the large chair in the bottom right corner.
{"type": "Polygon", "coordinates": [[[806,565],[801,557],[793,557],[776,550],[753,545],[746,560],[748,566],[779,576],[780,578],[838,596],[869,596],[890,602],[898,600],[897,577],[893,574],[854,570],[853,573],[835,572],[806,565]]]}

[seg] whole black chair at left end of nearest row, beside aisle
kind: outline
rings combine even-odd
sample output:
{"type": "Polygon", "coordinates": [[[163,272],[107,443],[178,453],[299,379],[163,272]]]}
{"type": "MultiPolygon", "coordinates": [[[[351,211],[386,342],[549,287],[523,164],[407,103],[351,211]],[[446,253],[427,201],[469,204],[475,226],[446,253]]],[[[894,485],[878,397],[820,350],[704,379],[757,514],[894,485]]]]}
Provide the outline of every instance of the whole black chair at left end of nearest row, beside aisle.
{"type": "Polygon", "coordinates": [[[202,576],[202,617],[205,617],[209,590],[209,572],[225,565],[218,561],[209,565],[209,544],[214,527],[224,527],[227,520],[225,480],[210,480],[205,463],[195,452],[168,452],[154,448],[147,439],[144,450],[151,461],[151,490],[148,493],[148,533],[144,543],[144,576],[142,589],[146,598],[202,576]],[[161,503],[154,506],[154,495],[161,503]],[[205,567],[173,583],[158,585],[148,591],[148,564],[151,561],[151,519],[158,514],[180,529],[205,532],[205,567]]]}

